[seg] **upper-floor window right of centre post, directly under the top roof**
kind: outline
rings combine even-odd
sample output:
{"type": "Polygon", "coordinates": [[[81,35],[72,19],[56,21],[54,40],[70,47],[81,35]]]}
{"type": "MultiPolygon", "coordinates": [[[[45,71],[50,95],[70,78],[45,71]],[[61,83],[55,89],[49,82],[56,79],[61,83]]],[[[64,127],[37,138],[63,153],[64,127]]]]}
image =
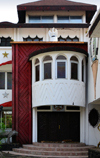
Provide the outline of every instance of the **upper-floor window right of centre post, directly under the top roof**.
{"type": "Polygon", "coordinates": [[[82,16],[58,16],[58,23],[82,23],[82,16]]]}

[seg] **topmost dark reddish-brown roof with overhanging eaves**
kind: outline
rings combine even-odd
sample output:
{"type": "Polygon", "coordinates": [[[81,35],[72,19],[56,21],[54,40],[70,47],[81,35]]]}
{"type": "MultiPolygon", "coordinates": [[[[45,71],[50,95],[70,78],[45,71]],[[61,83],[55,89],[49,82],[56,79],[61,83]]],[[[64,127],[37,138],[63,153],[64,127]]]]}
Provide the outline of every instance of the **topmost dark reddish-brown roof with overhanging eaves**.
{"type": "Polygon", "coordinates": [[[41,0],[20,4],[17,6],[19,23],[25,23],[26,11],[86,11],[86,21],[90,23],[95,11],[96,5],[73,2],[68,0],[41,0]]]}

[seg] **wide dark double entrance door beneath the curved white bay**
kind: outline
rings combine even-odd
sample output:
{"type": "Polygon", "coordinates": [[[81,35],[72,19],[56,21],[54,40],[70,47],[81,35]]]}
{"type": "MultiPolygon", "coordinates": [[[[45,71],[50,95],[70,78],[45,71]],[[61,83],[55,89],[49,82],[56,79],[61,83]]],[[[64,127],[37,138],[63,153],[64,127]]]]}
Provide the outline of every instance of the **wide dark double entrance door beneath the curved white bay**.
{"type": "Polygon", "coordinates": [[[80,141],[80,112],[38,112],[38,142],[80,141]]]}

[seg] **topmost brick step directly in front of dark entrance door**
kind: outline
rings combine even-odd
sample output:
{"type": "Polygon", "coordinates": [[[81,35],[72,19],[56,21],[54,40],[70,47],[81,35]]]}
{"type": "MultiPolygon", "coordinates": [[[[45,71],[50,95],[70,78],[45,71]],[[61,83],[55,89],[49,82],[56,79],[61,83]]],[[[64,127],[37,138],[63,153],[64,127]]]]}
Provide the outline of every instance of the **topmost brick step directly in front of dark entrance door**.
{"type": "Polygon", "coordinates": [[[42,147],[83,147],[85,143],[33,143],[33,145],[42,147]]]}

